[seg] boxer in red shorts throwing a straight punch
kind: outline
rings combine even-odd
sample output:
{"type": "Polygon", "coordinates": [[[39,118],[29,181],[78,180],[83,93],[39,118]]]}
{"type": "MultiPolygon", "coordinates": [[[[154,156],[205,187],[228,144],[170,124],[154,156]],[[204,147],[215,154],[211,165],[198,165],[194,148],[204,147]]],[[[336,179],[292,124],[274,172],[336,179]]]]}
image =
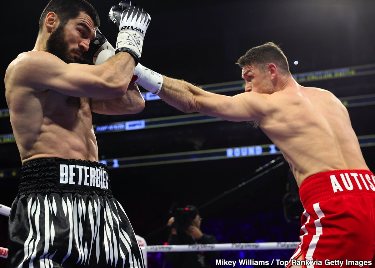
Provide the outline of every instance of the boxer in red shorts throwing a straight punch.
{"type": "Polygon", "coordinates": [[[298,84],[272,42],[251,48],[237,63],[245,92],[235,96],[206,92],[140,64],[135,83],[184,113],[254,121],[281,150],[306,209],[293,259],[319,261],[292,267],[374,266],[374,175],[347,108],[328,90],[298,84]]]}

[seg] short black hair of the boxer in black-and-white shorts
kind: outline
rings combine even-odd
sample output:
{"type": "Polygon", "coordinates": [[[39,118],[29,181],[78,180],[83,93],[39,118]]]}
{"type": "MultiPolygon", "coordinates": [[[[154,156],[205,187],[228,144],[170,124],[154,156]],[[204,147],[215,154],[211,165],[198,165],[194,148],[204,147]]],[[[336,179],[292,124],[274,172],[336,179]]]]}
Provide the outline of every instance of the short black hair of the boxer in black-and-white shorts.
{"type": "Polygon", "coordinates": [[[77,18],[81,11],[86,12],[92,18],[95,27],[100,26],[98,12],[86,0],[51,0],[40,16],[39,32],[42,32],[44,20],[48,12],[55,12],[62,26],[65,26],[70,19],[77,18]]]}

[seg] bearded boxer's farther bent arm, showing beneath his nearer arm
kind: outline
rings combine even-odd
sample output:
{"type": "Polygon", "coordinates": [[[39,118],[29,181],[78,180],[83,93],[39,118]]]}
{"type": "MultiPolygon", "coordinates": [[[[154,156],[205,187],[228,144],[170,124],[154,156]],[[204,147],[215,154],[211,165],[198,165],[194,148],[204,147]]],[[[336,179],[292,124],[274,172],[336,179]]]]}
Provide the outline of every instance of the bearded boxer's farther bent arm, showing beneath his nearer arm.
{"type": "Polygon", "coordinates": [[[92,98],[92,111],[100,114],[134,114],[145,107],[145,101],[138,86],[130,83],[124,96],[104,99],[92,98]]]}

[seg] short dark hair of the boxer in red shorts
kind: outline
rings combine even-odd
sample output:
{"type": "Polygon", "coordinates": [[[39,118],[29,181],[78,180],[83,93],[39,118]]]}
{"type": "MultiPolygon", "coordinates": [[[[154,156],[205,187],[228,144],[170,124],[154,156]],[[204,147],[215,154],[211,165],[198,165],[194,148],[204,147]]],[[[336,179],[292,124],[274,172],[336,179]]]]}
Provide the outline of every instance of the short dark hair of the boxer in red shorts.
{"type": "Polygon", "coordinates": [[[262,69],[269,63],[275,63],[285,73],[290,72],[287,57],[285,57],[284,52],[282,52],[279,46],[273,42],[249,49],[237,61],[237,64],[241,68],[257,65],[262,69]]]}

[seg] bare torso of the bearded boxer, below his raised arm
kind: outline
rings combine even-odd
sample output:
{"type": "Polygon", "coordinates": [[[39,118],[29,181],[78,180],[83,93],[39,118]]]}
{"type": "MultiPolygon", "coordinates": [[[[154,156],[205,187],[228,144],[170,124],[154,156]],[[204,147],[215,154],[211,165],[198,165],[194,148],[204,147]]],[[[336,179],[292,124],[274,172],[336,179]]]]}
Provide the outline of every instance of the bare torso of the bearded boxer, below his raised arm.
{"type": "Polygon", "coordinates": [[[22,163],[59,157],[98,161],[89,98],[12,85],[6,99],[22,163]]]}

